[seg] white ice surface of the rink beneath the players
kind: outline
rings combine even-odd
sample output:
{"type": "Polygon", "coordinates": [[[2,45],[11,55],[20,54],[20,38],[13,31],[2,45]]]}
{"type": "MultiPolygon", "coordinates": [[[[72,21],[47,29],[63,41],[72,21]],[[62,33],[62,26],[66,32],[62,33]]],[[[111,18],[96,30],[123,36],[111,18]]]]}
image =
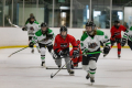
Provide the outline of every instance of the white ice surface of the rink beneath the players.
{"type": "MultiPolygon", "coordinates": [[[[41,67],[41,56],[35,50],[26,48],[8,57],[20,48],[0,50],[0,88],[132,88],[132,51],[122,48],[118,59],[117,48],[107,57],[102,54],[97,63],[96,82],[91,86],[86,72],[75,69],[69,76],[66,69],[61,70],[53,79],[51,74],[57,69],[41,67]]],[[[63,62],[64,65],[64,62],[63,62]]],[[[56,66],[52,56],[46,53],[46,66],[56,66]]],[[[81,64],[79,64],[81,67],[81,64]]]]}

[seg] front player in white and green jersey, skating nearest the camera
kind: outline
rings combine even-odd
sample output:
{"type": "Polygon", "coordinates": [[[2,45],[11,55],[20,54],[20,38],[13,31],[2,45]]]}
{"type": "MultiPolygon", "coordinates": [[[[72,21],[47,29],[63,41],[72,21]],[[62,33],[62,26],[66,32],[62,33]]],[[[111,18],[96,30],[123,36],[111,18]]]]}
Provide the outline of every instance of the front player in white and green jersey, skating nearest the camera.
{"type": "Polygon", "coordinates": [[[96,30],[96,24],[90,21],[86,23],[86,32],[80,38],[82,51],[82,68],[87,72],[86,79],[95,82],[96,63],[100,54],[87,55],[87,53],[100,52],[100,41],[105,44],[103,53],[108,54],[110,51],[109,37],[100,30],[96,30]]]}

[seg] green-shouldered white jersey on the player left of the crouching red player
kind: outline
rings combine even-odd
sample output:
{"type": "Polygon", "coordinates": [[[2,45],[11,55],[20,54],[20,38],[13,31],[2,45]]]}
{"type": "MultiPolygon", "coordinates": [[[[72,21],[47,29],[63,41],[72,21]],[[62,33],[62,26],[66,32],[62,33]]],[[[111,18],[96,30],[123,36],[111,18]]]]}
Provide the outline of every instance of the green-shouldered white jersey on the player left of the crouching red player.
{"type": "MultiPolygon", "coordinates": [[[[53,31],[51,30],[51,29],[47,29],[47,33],[48,34],[52,34],[53,35],[53,38],[54,38],[54,33],[53,33],[53,31]]],[[[50,40],[47,40],[47,41],[44,41],[44,38],[46,38],[46,34],[42,34],[42,31],[41,30],[38,30],[35,34],[34,34],[34,36],[33,36],[33,38],[32,38],[32,42],[33,43],[42,43],[42,44],[47,44],[47,45],[51,45],[52,44],[52,42],[53,42],[53,38],[50,38],[50,40]]]]}

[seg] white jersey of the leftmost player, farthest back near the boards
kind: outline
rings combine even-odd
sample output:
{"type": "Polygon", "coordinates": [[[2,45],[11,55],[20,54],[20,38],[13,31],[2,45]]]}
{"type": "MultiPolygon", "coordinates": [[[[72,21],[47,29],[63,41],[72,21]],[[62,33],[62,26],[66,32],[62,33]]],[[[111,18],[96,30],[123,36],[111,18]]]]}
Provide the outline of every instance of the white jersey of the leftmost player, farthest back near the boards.
{"type": "Polygon", "coordinates": [[[34,33],[41,29],[38,22],[34,21],[34,23],[26,22],[25,28],[28,30],[29,36],[34,36],[34,33]]]}

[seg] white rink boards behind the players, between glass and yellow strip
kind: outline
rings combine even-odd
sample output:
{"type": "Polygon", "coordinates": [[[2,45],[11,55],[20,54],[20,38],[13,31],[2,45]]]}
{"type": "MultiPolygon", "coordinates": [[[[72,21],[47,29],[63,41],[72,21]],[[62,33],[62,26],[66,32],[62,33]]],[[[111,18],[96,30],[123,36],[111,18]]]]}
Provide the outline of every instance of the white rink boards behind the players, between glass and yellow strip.
{"type": "MultiPolygon", "coordinates": [[[[51,28],[55,35],[59,33],[59,28],[51,28]]],[[[68,29],[68,33],[74,35],[76,40],[80,40],[85,29],[68,29]]],[[[110,36],[110,30],[101,29],[108,36],[110,36]]],[[[29,37],[28,32],[18,28],[0,28],[0,46],[15,46],[28,45],[29,37]]]]}

